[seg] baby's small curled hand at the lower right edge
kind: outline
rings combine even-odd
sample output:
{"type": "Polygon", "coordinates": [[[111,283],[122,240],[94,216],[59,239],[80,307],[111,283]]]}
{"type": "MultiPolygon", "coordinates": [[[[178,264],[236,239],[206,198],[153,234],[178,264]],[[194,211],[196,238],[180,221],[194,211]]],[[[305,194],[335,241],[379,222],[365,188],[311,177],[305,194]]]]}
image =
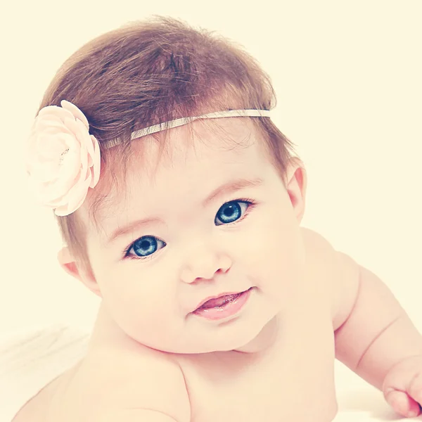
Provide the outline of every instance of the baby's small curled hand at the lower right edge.
{"type": "Polygon", "coordinates": [[[422,404],[422,355],[408,357],[393,366],[385,376],[383,393],[399,415],[418,416],[422,404]]]}

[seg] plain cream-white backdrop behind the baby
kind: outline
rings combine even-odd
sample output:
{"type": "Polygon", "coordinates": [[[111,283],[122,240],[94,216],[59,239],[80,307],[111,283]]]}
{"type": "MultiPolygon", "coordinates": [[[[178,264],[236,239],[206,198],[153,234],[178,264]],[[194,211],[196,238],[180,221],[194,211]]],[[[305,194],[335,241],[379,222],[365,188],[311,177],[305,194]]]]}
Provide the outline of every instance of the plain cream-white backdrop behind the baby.
{"type": "MultiPolygon", "coordinates": [[[[23,143],[80,46],[170,15],[243,44],[276,89],[273,119],[308,174],[302,225],[385,281],[422,329],[422,1],[27,1],[1,25],[0,333],[89,326],[97,298],[60,269],[51,212],[28,196],[23,143]]],[[[5,10],[5,9],[4,9],[5,10]]],[[[352,406],[352,404],[351,404],[352,406]]]]}

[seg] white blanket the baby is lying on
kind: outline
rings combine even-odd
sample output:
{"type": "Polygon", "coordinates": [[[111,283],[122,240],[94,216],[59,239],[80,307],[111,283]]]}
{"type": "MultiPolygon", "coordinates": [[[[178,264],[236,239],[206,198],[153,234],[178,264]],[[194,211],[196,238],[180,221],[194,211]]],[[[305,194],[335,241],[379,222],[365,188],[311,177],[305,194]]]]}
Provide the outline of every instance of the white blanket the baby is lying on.
{"type": "MultiPolygon", "coordinates": [[[[87,351],[88,339],[87,331],[65,324],[1,335],[0,422],[11,422],[41,388],[76,364],[87,351]]],[[[339,405],[335,422],[411,421],[399,418],[381,392],[338,361],[335,382],[339,405]]],[[[422,421],[422,416],[416,419],[422,421]]]]}

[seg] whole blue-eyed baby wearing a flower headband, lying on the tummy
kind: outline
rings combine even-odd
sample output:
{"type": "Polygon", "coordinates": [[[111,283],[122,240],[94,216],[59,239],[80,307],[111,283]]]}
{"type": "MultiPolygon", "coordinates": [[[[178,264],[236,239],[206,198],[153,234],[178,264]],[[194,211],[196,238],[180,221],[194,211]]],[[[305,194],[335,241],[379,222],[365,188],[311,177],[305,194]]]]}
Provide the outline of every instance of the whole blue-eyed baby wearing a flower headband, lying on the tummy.
{"type": "Polygon", "coordinates": [[[170,18],[90,41],[47,89],[30,188],[101,298],[86,356],[15,422],[328,422],[334,359],[402,416],[422,337],[368,269],[300,227],[307,176],[240,47],[170,18]]]}

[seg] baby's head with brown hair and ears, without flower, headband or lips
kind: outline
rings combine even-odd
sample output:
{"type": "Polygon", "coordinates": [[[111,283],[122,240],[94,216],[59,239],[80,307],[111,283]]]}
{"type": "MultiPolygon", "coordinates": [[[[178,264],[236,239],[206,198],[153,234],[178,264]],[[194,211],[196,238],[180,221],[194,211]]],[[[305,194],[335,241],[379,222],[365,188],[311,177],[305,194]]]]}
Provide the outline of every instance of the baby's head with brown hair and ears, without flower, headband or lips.
{"type": "Polygon", "coordinates": [[[268,117],[131,135],[182,117],[270,110],[267,75],[229,41],[157,18],[79,49],[40,110],[62,100],[82,111],[101,157],[98,183],[56,217],[63,268],[149,347],[198,353],[250,343],[300,294],[306,176],[292,144],[268,117]],[[245,290],[234,316],[193,312],[210,296],[245,290]]]}

